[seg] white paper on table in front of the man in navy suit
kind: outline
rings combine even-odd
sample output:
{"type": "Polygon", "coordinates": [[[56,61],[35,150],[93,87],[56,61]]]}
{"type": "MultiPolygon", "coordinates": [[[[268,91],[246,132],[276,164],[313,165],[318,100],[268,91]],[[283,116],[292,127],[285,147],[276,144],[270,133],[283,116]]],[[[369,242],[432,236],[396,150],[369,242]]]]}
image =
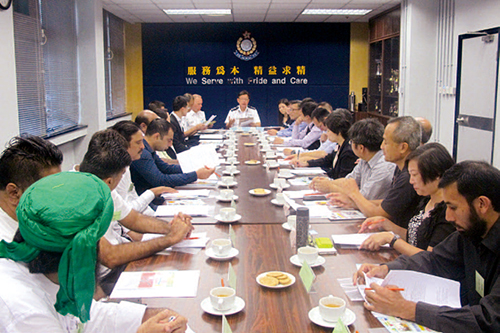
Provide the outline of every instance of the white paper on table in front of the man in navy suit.
{"type": "Polygon", "coordinates": [[[199,145],[177,154],[183,173],[193,172],[204,167],[216,167],[219,158],[213,145],[199,145]]]}

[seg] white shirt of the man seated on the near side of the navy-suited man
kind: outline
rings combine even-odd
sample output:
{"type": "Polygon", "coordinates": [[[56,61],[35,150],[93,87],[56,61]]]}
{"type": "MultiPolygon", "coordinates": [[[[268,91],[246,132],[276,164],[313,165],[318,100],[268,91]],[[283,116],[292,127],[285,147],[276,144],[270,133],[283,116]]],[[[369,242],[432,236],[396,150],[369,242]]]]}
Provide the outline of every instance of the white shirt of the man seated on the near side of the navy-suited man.
{"type": "Polygon", "coordinates": [[[130,177],[130,168],[125,169],[122,180],[116,187],[116,192],[129,204],[129,206],[144,215],[154,216],[154,210],[149,207],[149,204],[155,198],[155,195],[150,190],[144,191],[140,196],[135,191],[134,183],[130,177]]]}

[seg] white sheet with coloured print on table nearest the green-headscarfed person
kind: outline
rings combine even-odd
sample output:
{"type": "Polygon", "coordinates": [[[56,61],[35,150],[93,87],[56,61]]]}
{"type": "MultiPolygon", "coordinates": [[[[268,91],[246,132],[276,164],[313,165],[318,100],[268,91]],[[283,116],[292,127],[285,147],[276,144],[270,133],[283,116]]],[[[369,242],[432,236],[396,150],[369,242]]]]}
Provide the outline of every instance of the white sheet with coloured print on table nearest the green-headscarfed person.
{"type": "Polygon", "coordinates": [[[123,272],[111,298],[196,297],[199,270],[123,272]]]}

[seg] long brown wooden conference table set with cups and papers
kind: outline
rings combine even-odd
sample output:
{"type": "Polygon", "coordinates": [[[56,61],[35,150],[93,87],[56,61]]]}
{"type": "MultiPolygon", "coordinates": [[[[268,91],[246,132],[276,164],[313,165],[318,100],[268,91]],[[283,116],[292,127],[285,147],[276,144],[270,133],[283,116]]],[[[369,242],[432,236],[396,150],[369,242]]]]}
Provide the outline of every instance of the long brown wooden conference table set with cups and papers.
{"type": "MultiPolygon", "coordinates": [[[[143,298],[139,301],[153,307],[168,307],[186,316],[190,327],[197,333],[221,332],[220,316],[205,313],[200,303],[209,296],[212,288],[220,286],[221,278],[227,280],[229,263],[237,275],[236,295],[243,298],[245,308],[227,317],[233,332],[332,332],[311,322],[308,312],[318,306],[319,299],[334,295],[347,302],[347,308],[356,314],[355,322],[349,326],[351,332],[368,332],[370,328],[382,325],[363,307],[363,302],[351,302],[340,287],[337,279],[351,277],[358,263],[382,263],[395,258],[393,251],[366,252],[338,249],[337,255],[323,255],[324,265],[313,268],[316,280],[311,292],[307,293],[299,277],[300,267],[290,262],[294,255],[291,248],[290,232],[282,227],[286,221],[283,209],[271,204],[276,191],[268,196],[255,197],[248,193],[253,188],[269,188],[275,170],[268,173],[260,165],[246,165],[244,161],[256,159],[263,162],[258,145],[245,146],[246,142],[256,142],[254,136],[238,135],[238,170],[235,176],[238,185],[234,187],[237,213],[242,218],[233,223],[236,234],[234,247],[239,255],[229,261],[215,261],[205,255],[205,250],[196,254],[173,252],[171,255],[156,255],[132,262],[127,271],[155,270],[200,270],[200,283],[195,298],[143,298]],[[266,271],[285,271],[294,275],[295,284],[283,289],[269,289],[260,286],[256,277],[266,271]]],[[[290,189],[304,189],[291,187],[290,189]]],[[[212,199],[214,200],[214,199],[212,199]]],[[[215,212],[229,203],[215,202],[215,212]]],[[[311,222],[311,229],[317,237],[332,234],[355,233],[359,222],[333,223],[311,222]]],[[[228,224],[197,224],[193,219],[195,232],[207,232],[210,239],[228,237],[228,224]]]]}

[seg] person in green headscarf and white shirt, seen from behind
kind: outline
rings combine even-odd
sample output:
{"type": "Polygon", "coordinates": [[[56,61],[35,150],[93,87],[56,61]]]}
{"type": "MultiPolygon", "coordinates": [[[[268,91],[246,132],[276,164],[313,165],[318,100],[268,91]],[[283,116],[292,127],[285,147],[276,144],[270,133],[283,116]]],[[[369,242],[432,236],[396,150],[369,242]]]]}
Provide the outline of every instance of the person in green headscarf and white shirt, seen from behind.
{"type": "MultiPolygon", "coordinates": [[[[109,187],[91,174],[62,172],[26,190],[17,208],[19,231],[13,242],[0,242],[0,258],[5,258],[0,259],[2,329],[51,333],[139,329],[147,317],[145,306],[93,301],[97,243],[112,215],[109,187]]],[[[174,321],[175,332],[183,332],[185,319],[176,316],[174,321]]]]}

